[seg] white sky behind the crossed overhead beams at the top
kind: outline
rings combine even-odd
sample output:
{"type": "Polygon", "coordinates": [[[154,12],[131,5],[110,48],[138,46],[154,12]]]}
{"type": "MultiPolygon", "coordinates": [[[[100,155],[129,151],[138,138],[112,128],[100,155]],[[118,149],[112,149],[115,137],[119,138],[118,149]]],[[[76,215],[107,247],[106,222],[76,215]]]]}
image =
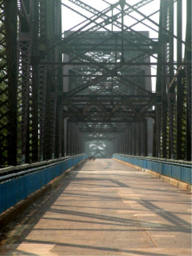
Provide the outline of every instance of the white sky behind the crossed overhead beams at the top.
{"type": "MultiPolygon", "coordinates": [[[[104,1],[103,0],[82,0],[82,2],[85,2],[86,4],[90,5],[91,7],[95,8],[96,10],[99,10],[99,11],[103,11],[104,9],[109,7],[109,4],[107,4],[106,2],[110,2],[110,4],[115,4],[117,2],[116,0],[106,0],[106,2],[104,2],[104,1]]],[[[183,1],[183,9],[184,9],[183,23],[185,26],[186,0],[182,0],[182,1],[183,1]]],[[[62,0],[62,2],[63,2],[63,4],[66,4],[68,7],[71,7],[73,9],[79,11],[79,13],[83,14],[86,17],[92,16],[92,14],[89,13],[89,11],[83,10],[82,8],[73,4],[73,2],[71,2],[70,0],[62,0]]],[[[131,4],[131,5],[134,5],[137,2],[140,2],[140,0],[131,0],[131,1],[127,0],[127,3],[131,4]]],[[[168,2],[168,0],[167,0],[167,2],[168,2]]],[[[176,5],[176,2],[175,2],[175,5],[176,5]]],[[[118,8],[120,9],[120,5],[118,5],[118,8]]],[[[128,7],[125,7],[125,8],[128,8],[128,7]]],[[[149,14],[154,13],[155,11],[159,10],[159,8],[160,8],[160,0],[154,0],[151,3],[145,5],[144,7],[139,8],[138,10],[145,15],[149,15],[149,14]]],[[[119,10],[117,10],[115,8],[114,14],[116,14],[118,12],[119,12],[119,10]]],[[[112,12],[109,11],[106,14],[107,14],[107,16],[111,16],[112,12]]],[[[140,14],[138,14],[136,12],[130,13],[130,15],[134,16],[136,19],[139,19],[139,20],[143,18],[140,14]]],[[[158,13],[152,15],[150,17],[150,19],[152,19],[152,20],[154,20],[154,22],[158,23],[158,20],[159,20],[158,13]]],[[[78,23],[82,22],[83,20],[85,20],[85,17],[82,17],[79,14],[75,13],[74,11],[70,10],[69,8],[62,6],[62,29],[64,31],[66,31],[70,28],[73,28],[73,26],[76,26],[78,23]]],[[[97,19],[97,22],[101,22],[101,20],[102,19],[97,19]]],[[[119,20],[119,21],[121,21],[121,20],[119,20]]],[[[143,22],[149,26],[152,26],[152,28],[154,28],[158,31],[158,26],[155,26],[152,22],[149,22],[148,20],[143,20],[143,22]]],[[[134,20],[131,17],[125,16],[124,23],[125,23],[125,25],[130,26],[130,25],[133,25],[134,23],[136,23],[136,20],[134,20]]],[[[78,26],[77,28],[80,28],[81,26],[78,26]]],[[[111,25],[106,26],[106,28],[111,29],[111,25]]],[[[141,23],[133,26],[132,28],[136,31],[146,31],[147,30],[147,31],[149,31],[150,37],[152,37],[152,38],[158,37],[157,32],[153,31],[152,29],[149,29],[147,26],[145,26],[141,23]]],[[[175,26],[175,28],[176,28],[176,26],[175,26]]],[[[86,27],[85,29],[88,29],[88,27],[86,27]]],[[[85,30],[85,29],[83,29],[83,30],[85,30]]],[[[104,29],[102,29],[102,30],[104,30],[104,29]]],[[[118,28],[116,28],[114,26],[114,30],[118,30],[118,28]]],[[[175,34],[176,34],[176,31],[175,31],[175,34]]],[[[185,35],[184,35],[183,39],[185,39],[185,35]]]]}

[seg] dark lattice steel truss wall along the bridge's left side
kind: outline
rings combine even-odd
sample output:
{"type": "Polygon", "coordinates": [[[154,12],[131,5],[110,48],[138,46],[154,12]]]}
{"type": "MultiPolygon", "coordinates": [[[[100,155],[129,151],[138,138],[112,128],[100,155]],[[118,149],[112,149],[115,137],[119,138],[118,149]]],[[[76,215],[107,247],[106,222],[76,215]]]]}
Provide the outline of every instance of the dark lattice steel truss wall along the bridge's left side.
{"type": "Polygon", "coordinates": [[[44,65],[62,61],[59,46],[45,54],[61,40],[61,1],[2,0],[0,13],[1,165],[63,156],[62,67],[44,65]]]}

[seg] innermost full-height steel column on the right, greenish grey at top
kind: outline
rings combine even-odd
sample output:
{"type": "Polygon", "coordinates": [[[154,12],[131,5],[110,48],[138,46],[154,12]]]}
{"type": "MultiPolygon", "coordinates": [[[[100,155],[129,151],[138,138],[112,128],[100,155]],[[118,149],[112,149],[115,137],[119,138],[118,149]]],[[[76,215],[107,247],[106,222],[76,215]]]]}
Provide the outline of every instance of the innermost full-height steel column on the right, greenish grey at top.
{"type": "Polygon", "coordinates": [[[157,65],[157,96],[161,98],[160,102],[157,102],[155,112],[155,127],[156,127],[156,156],[167,156],[167,94],[166,94],[166,76],[167,67],[161,65],[162,62],[167,61],[169,55],[169,49],[167,47],[167,34],[164,29],[167,29],[168,25],[168,11],[169,5],[167,1],[161,0],[160,2],[160,28],[159,28],[159,47],[158,47],[158,65],[157,65]]]}

